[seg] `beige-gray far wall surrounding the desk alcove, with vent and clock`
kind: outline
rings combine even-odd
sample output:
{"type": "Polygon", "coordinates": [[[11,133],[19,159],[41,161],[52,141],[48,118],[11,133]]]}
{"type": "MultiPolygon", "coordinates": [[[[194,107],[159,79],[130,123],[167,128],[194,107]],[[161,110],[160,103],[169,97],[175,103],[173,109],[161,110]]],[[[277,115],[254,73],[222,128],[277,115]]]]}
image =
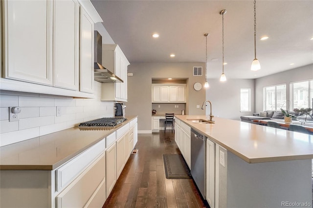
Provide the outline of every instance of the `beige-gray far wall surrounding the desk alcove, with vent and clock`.
{"type": "Polygon", "coordinates": [[[205,63],[132,63],[128,72],[134,76],[128,76],[128,102],[126,115],[138,115],[138,130],[151,132],[152,111],[152,78],[188,78],[187,80],[187,103],[186,115],[204,115],[204,111],[196,108],[202,105],[205,99],[205,90],[195,91],[195,82],[205,82],[205,71],[203,76],[193,76],[193,67],[203,67],[205,63]]]}

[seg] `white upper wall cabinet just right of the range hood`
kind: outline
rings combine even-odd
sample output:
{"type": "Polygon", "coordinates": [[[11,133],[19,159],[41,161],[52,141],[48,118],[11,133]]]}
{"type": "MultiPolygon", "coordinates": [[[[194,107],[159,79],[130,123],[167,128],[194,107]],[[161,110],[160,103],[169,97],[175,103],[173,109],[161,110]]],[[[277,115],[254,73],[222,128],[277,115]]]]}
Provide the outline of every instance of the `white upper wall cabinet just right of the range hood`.
{"type": "Polygon", "coordinates": [[[102,65],[121,78],[123,82],[101,84],[101,100],[127,102],[127,67],[130,65],[116,44],[102,45],[102,65]]]}

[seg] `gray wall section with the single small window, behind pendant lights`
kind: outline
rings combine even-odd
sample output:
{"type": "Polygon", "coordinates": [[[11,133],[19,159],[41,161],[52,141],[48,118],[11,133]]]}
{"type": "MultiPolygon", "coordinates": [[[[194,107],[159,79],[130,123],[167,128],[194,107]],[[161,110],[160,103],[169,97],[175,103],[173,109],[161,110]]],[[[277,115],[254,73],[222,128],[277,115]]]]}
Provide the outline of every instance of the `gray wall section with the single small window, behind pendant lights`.
{"type": "MultiPolygon", "coordinates": [[[[254,113],[254,79],[228,79],[220,82],[219,79],[208,79],[210,87],[206,90],[206,99],[212,103],[212,114],[239,120],[240,116],[250,116],[254,113]],[[251,112],[240,112],[240,89],[251,89],[251,112]]],[[[206,115],[210,114],[209,105],[206,115]]]]}

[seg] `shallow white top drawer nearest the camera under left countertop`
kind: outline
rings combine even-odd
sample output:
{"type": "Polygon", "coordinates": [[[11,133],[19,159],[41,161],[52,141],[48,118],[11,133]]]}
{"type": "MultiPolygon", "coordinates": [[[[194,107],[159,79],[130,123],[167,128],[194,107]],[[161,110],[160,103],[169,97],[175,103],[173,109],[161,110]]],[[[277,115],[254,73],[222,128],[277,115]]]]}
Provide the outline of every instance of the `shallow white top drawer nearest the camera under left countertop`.
{"type": "Polygon", "coordinates": [[[84,169],[105,150],[105,140],[102,139],[89,149],[82,152],[60,168],[56,169],[56,191],[61,191],[72,182],[84,169]]]}

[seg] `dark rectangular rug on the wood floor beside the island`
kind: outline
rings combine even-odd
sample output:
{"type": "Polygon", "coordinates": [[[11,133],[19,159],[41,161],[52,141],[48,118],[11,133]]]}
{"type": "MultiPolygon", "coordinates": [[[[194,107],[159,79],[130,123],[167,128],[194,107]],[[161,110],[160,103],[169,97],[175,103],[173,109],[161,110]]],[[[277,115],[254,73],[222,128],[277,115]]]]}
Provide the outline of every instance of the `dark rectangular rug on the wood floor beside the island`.
{"type": "Polygon", "coordinates": [[[167,179],[190,179],[191,174],[181,154],[163,155],[165,175],[167,179]]]}

